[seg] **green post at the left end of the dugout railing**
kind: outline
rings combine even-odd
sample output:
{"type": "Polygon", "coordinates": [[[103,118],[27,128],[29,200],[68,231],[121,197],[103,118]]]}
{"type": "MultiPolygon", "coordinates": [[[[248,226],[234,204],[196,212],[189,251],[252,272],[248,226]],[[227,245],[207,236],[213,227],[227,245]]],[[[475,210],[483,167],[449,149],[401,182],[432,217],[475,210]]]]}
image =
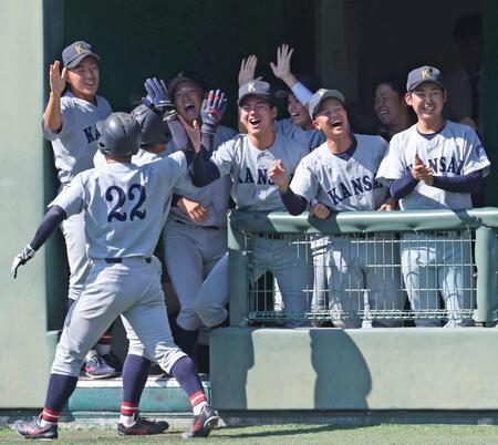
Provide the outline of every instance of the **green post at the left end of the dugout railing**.
{"type": "Polygon", "coordinates": [[[245,250],[245,236],[237,228],[237,213],[228,215],[228,263],[230,291],[230,325],[247,325],[249,311],[248,261],[245,250]]]}

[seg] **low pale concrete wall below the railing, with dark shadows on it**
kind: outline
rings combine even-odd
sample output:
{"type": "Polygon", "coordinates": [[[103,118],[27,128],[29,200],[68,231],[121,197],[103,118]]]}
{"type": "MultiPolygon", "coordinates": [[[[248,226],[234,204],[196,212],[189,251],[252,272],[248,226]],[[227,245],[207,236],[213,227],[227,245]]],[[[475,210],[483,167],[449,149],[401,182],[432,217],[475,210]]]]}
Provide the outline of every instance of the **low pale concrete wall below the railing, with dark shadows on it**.
{"type": "Polygon", "coordinates": [[[498,329],[249,329],[211,338],[216,408],[498,410],[498,329]]]}

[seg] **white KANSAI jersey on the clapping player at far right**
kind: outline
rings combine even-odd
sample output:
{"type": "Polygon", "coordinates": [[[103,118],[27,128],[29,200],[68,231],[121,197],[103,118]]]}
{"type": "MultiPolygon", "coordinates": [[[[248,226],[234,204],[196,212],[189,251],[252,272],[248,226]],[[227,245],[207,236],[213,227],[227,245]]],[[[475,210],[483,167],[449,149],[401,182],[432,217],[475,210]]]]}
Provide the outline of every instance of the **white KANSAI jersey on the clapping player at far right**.
{"type": "MultiPolygon", "coordinates": [[[[413,167],[415,153],[436,176],[463,176],[478,170],[486,176],[489,173],[490,163],[477,133],[468,125],[446,121],[445,127],[432,138],[422,135],[416,125],[394,135],[377,179],[388,182],[405,176],[413,167]]],[[[405,210],[466,209],[471,208],[471,199],[468,193],[443,190],[421,180],[400,199],[400,207],[405,210]]]]}

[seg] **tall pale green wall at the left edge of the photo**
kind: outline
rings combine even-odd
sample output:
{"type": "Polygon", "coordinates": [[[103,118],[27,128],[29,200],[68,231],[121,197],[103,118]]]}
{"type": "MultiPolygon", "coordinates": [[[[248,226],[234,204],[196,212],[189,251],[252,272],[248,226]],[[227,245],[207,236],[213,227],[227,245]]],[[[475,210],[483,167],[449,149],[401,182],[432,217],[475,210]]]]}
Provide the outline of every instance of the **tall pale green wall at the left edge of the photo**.
{"type": "Polygon", "coordinates": [[[40,406],[51,354],[44,250],[15,281],[10,265],[44,213],[43,1],[2,1],[0,17],[0,407],[40,406]]]}

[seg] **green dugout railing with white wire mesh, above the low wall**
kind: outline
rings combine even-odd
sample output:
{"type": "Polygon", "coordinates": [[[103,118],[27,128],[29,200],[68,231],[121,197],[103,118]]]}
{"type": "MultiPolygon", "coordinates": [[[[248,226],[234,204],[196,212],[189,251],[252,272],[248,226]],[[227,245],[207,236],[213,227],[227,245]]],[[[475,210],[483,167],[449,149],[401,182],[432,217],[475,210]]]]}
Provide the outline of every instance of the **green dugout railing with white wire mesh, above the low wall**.
{"type": "Polygon", "coordinates": [[[494,325],[497,320],[498,208],[344,211],[324,220],[234,210],[228,229],[232,327],[450,325],[455,320],[494,325]],[[280,289],[282,255],[289,282],[280,289]],[[417,269],[419,262],[428,267],[417,269]],[[261,273],[276,265],[276,273],[261,273]],[[303,268],[313,277],[305,282],[297,279],[305,276],[303,268]],[[289,289],[304,308],[286,309],[289,289]],[[454,294],[459,297],[453,300],[454,294]]]}

